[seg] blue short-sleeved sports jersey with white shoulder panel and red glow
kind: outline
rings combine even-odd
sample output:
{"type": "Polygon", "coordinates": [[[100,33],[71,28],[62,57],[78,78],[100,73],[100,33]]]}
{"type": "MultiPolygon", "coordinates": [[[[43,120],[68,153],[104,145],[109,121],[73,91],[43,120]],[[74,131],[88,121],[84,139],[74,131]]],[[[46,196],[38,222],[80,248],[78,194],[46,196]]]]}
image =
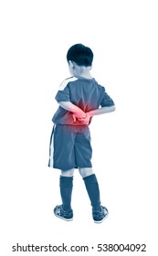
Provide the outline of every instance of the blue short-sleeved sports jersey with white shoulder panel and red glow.
{"type": "MultiPolygon", "coordinates": [[[[105,88],[94,78],[70,77],[64,80],[59,87],[55,99],[58,102],[70,101],[83,112],[96,110],[100,106],[111,107],[114,105],[111,97],[106,93],[105,88]]],[[[82,123],[79,123],[79,120],[74,122],[72,112],[68,112],[61,106],[58,107],[52,121],[56,124],[82,125],[82,123]]]]}

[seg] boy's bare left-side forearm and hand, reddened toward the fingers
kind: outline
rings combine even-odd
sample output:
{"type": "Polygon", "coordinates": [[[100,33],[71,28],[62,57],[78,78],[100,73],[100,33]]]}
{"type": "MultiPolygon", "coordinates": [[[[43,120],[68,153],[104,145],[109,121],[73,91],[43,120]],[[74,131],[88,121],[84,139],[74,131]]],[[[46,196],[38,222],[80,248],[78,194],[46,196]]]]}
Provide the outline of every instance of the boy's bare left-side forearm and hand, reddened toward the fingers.
{"type": "Polygon", "coordinates": [[[73,112],[74,122],[76,121],[76,118],[84,119],[86,117],[86,113],[83,112],[81,109],[79,109],[78,106],[74,105],[70,101],[59,101],[58,104],[68,112],[73,112]]]}

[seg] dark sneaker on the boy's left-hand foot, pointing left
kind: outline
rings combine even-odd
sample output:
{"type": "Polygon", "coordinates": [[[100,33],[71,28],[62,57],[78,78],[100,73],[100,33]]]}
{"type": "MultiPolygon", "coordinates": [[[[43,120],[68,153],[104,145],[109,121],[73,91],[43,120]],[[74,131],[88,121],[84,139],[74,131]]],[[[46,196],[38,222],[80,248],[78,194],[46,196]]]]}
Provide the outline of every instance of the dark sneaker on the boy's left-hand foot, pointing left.
{"type": "Polygon", "coordinates": [[[68,210],[64,210],[61,206],[57,206],[54,208],[54,214],[60,218],[60,219],[64,219],[64,220],[72,220],[73,219],[73,211],[72,209],[68,209],[68,210]]]}

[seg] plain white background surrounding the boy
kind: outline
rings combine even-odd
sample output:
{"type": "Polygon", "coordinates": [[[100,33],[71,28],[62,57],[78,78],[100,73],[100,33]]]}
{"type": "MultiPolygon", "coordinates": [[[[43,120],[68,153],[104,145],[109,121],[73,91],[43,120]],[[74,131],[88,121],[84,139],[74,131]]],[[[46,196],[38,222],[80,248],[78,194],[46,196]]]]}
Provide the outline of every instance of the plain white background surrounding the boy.
{"type": "Polygon", "coordinates": [[[157,13],[153,0],[1,1],[2,255],[24,255],[12,252],[17,242],[94,246],[88,255],[106,254],[99,243],[145,243],[147,252],[124,255],[156,255],[157,13]],[[110,211],[100,225],[78,171],[74,220],[53,216],[60,195],[59,171],[47,167],[51,118],[75,43],[92,48],[91,74],[116,104],[90,125],[101,202],[110,211]]]}

